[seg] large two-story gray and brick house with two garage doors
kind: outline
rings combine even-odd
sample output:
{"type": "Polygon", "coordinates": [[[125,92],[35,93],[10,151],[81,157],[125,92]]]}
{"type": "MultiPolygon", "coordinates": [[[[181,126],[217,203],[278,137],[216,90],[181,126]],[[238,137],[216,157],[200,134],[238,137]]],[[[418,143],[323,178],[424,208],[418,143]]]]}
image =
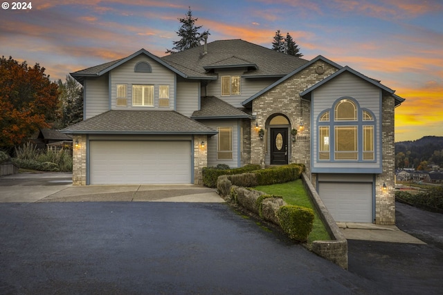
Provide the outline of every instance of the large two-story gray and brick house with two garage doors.
{"type": "Polygon", "coordinates": [[[395,224],[404,99],[348,66],[235,39],[71,75],[84,86],[84,121],[62,131],[74,185],[200,184],[205,166],[296,162],[336,221],[395,224]]]}

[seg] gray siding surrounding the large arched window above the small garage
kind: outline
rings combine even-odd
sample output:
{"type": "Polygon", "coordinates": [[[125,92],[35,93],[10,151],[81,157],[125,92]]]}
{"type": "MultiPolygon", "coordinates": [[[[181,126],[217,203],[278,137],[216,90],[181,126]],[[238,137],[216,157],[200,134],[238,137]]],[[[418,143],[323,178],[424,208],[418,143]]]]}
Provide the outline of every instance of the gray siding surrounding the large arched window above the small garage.
{"type": "MultiPolygon", "coordinates": [[[[312,93],[312,151],[313,151],[313,167],[314,168],[343,168],[343,169],[377,169],[381,163],[381,90],[363,79],[356,77],[350,73],[343,73],[325,85],[320,86],[312,93]],[[318,115],[331,108],[337,99],[341,97],[353,97],[359,103],[360,109],[365,108],[375,116],[375,163],[361,163],[361,162],[316,162],[316,155],[318,152],[318,115]]],[[[361,112],[358,114],[361,118],[361,112]]],[[[357,123],[356,123],[357,125],[357,123]]],[[[332,134],[334,130],[330,130],[332,134]]],[[[360,146],[361,142],[359,142],[360,146]]],[[[331,146],[334,149],[334,146],[331,146]]]]}

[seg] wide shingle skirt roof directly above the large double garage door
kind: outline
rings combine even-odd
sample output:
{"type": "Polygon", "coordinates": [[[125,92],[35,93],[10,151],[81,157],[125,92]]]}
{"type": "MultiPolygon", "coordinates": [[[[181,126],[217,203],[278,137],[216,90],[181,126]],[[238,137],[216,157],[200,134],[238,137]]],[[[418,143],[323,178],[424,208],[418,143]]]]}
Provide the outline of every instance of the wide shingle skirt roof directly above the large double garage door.
{"type": "Polygon", "coordinates": [[[175,111],[107,111],[61,130],[68,134],[216,134],[175,111]]]}

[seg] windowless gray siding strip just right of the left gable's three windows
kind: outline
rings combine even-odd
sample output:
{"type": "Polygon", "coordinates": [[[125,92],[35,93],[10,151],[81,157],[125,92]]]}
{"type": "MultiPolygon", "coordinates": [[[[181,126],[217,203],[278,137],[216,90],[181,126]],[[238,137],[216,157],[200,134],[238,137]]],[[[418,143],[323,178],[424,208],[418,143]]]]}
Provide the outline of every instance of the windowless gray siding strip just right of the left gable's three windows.
{"type": "Polygon", "coordinates": [[[177,82],[177,112],[190,117],[199,110],[199,88],[199,82],[177,82]]]}

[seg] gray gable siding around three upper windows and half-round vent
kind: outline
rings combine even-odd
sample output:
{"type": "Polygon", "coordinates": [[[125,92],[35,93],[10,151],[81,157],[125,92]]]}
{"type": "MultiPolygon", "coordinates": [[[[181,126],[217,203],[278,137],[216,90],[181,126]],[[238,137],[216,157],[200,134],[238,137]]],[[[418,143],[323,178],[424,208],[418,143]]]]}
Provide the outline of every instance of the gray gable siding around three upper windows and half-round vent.
{"type": "MultiPolygon", "coordinates": [[[[168,68],[165,68],[161,64],[150,59],[145,55],[138,55],[127,61],[125,64],[111,70],[111,107],[112,109],[122,108],[147,108],[146,106],[132,106],[132,85],[154,85],[154,108],[161,110],[174,110],[174,97],[175,97],[175,73],[168,68]],[[135,73],[134,67],[139,61],[147,61],[151,68],[152,73],[135,73]],[[127,106],[116,106],[116,85],[127,84],[127,106]],[[169,86],[169,107],[159,107],[159,86],[169,86]]],[[[152,107],[151,107],[152,109],[152,107]]]]}

